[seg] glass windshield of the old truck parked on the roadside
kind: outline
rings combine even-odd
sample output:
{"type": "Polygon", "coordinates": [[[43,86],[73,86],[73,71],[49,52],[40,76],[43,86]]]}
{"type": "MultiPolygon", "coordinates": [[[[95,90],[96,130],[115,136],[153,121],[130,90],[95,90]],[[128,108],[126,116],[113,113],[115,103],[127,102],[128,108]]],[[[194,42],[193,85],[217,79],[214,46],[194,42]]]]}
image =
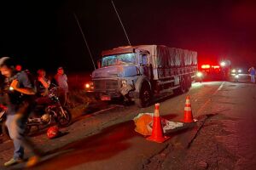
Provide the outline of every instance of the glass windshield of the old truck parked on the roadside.
{"type": "Polygon", "coordinates": [[[111,65],[134,65],[136,54],[113,54],[102,58],[102,67],[111,65]]]}

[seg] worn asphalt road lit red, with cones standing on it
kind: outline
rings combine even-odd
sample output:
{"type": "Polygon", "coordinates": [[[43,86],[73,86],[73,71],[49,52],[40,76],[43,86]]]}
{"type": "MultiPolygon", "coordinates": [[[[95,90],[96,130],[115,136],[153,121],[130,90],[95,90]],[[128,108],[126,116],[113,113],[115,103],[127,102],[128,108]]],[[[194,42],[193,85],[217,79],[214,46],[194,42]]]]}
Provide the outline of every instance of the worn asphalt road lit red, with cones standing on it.
{"type": "MultiPolygon", "coordinates": [[[[240,82],[196,82],[186,94],[160,99],[160,115],[180,122],[187,95],[199,122],[169,133],[171,139],[163,144],[134,131],[133,117],[154,112],[153,105],[116,106],[81,117],[62,129],[65,135],[58,139],[33,137],[46,156],[32,169],[255,169],[256,85],[246,77],[240,82]]],[[[0,150],[3,163],[12,155],[11,142],[0,144],[0,150]]]]}

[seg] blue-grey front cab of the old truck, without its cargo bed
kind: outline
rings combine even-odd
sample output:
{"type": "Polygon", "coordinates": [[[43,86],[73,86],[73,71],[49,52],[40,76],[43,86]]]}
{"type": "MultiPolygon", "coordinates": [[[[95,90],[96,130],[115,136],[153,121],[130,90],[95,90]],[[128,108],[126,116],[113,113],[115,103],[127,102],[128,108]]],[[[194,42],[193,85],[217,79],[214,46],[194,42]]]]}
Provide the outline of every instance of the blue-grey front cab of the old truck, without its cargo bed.
{"type": "MultiPolygon", "coordinates": [[[[151,70],[148,65],[148,51],[128,47],[103,51],[98,61],[98,69],[92,72],[94,93],[102,100],[124,98],[134,100],[138,91],[138,81],[148,82],[151,70]]],[[[150,98],[150,89],[146,93],[150,98]]],[[[147,99],[146,99],[147,100],[147,99]]],[[[147,102],[147,101],[144,101],[147,102]]]]}

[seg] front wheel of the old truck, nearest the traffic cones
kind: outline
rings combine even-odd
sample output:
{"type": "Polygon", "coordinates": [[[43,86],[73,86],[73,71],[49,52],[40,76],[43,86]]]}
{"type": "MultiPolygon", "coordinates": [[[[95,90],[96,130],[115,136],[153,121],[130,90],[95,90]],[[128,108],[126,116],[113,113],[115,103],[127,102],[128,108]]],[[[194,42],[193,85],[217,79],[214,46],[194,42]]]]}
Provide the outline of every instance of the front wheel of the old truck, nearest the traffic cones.
{"type": "Polygon", "coordinates": [[[135,99],[135,104],[138,107],[147,107],[150,103],[151,100],[151,91],[148,85],[143,85],[140,94],[139,94],[139,98],[135,99]]]}

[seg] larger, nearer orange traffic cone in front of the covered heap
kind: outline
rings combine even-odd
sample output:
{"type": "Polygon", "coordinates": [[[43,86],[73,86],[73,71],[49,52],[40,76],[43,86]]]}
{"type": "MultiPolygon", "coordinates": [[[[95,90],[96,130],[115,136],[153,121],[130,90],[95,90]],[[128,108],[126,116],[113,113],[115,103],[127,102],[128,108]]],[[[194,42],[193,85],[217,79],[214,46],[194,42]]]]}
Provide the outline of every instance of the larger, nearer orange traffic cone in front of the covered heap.
{"type": "Polygon", "coordinates": [[[166,139],[169,139],[170,137],[166,137],[163,135],[163,128],[161,124],[159,107],[160,107],[159,103],[154,105],[153,130],[152,130],[151,136],[148,137],[147,139],[154,142],[162,143],[162,142],[165,142],[166,139]]]}

